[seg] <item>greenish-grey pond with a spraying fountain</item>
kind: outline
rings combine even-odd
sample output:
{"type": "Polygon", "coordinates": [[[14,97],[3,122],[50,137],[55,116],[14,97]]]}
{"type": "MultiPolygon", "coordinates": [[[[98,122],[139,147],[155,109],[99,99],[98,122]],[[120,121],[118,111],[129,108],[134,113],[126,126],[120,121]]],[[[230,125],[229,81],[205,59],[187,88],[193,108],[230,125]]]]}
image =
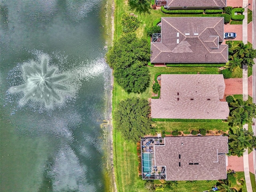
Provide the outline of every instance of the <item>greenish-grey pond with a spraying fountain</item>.
{"type": "Polygon", "coordinates": [[[104,192],[103,0],[0,0],[0,191],[104,192]]]}

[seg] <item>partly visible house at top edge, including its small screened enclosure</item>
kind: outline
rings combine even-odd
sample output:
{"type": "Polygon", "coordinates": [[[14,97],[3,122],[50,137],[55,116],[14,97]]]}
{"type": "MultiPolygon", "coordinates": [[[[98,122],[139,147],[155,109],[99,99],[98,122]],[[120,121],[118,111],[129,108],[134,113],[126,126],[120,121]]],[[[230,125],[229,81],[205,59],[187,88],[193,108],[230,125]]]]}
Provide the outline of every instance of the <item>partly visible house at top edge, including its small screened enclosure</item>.
{"type": "Polygon", "coordinates": [[[165,8],[168,10],[221,9],[227,6],[227,1],[226,0],[156,0],[156,5],[166,5],[165,8]]]}

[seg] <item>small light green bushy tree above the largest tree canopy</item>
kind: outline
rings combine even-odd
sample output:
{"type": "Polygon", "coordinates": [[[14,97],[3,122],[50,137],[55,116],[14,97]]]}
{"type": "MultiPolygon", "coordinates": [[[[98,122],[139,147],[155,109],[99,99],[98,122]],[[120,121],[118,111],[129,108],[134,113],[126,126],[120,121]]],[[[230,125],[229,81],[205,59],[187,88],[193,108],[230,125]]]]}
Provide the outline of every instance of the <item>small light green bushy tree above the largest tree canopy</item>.
{"type": "Polygon", "coordinates": [[[121,17],[122,30],[124,33],[133,32],[139,27],[138,16],[131,13],[124,13],[121,17]]]}

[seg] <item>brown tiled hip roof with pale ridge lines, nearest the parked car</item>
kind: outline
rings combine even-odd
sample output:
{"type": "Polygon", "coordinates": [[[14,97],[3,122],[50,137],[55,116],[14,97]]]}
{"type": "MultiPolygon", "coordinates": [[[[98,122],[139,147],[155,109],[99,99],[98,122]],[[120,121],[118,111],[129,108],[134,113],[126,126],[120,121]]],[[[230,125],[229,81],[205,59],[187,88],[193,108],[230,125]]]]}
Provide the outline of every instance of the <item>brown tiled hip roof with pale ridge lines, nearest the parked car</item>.
{"type": "Polygon", "coordinates": [[[152,63],[226,63],[223,17],[162,18],[162,42],[151,42],[152,63]],[[178,41],[178,42],[177,42],[178,41]]]}

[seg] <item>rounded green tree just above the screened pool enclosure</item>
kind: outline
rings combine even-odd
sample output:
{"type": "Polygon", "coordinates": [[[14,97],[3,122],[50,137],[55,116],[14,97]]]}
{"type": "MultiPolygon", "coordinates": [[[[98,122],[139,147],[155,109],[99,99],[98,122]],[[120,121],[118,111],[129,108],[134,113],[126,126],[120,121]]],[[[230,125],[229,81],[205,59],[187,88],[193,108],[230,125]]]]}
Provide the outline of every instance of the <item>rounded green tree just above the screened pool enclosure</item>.
{"type": "Polygon", "coordinates": [[[149,118],[148,101],[141,98],[122,100],[114,111],[114,123],[124,139],[138,142],[140,137],[150,133],[152,121],[149,118]]]}

